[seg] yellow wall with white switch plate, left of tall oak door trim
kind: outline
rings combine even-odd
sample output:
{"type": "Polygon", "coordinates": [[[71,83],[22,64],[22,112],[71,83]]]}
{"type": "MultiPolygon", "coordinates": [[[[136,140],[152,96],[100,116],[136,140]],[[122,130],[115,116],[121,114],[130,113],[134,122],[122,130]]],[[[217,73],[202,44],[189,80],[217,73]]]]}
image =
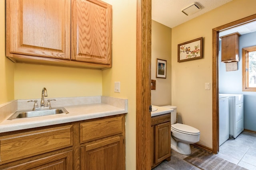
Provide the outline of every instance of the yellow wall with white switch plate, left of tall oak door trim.
{"type": "Polygon", "coordinates": [[[136,0],[104,0],[113,9],[112,68],[103,70],[102,94],[128,99],[126,169],[136,169],[136,0]],[[114,92],[120,82],[120,93],[114,92]]]}

